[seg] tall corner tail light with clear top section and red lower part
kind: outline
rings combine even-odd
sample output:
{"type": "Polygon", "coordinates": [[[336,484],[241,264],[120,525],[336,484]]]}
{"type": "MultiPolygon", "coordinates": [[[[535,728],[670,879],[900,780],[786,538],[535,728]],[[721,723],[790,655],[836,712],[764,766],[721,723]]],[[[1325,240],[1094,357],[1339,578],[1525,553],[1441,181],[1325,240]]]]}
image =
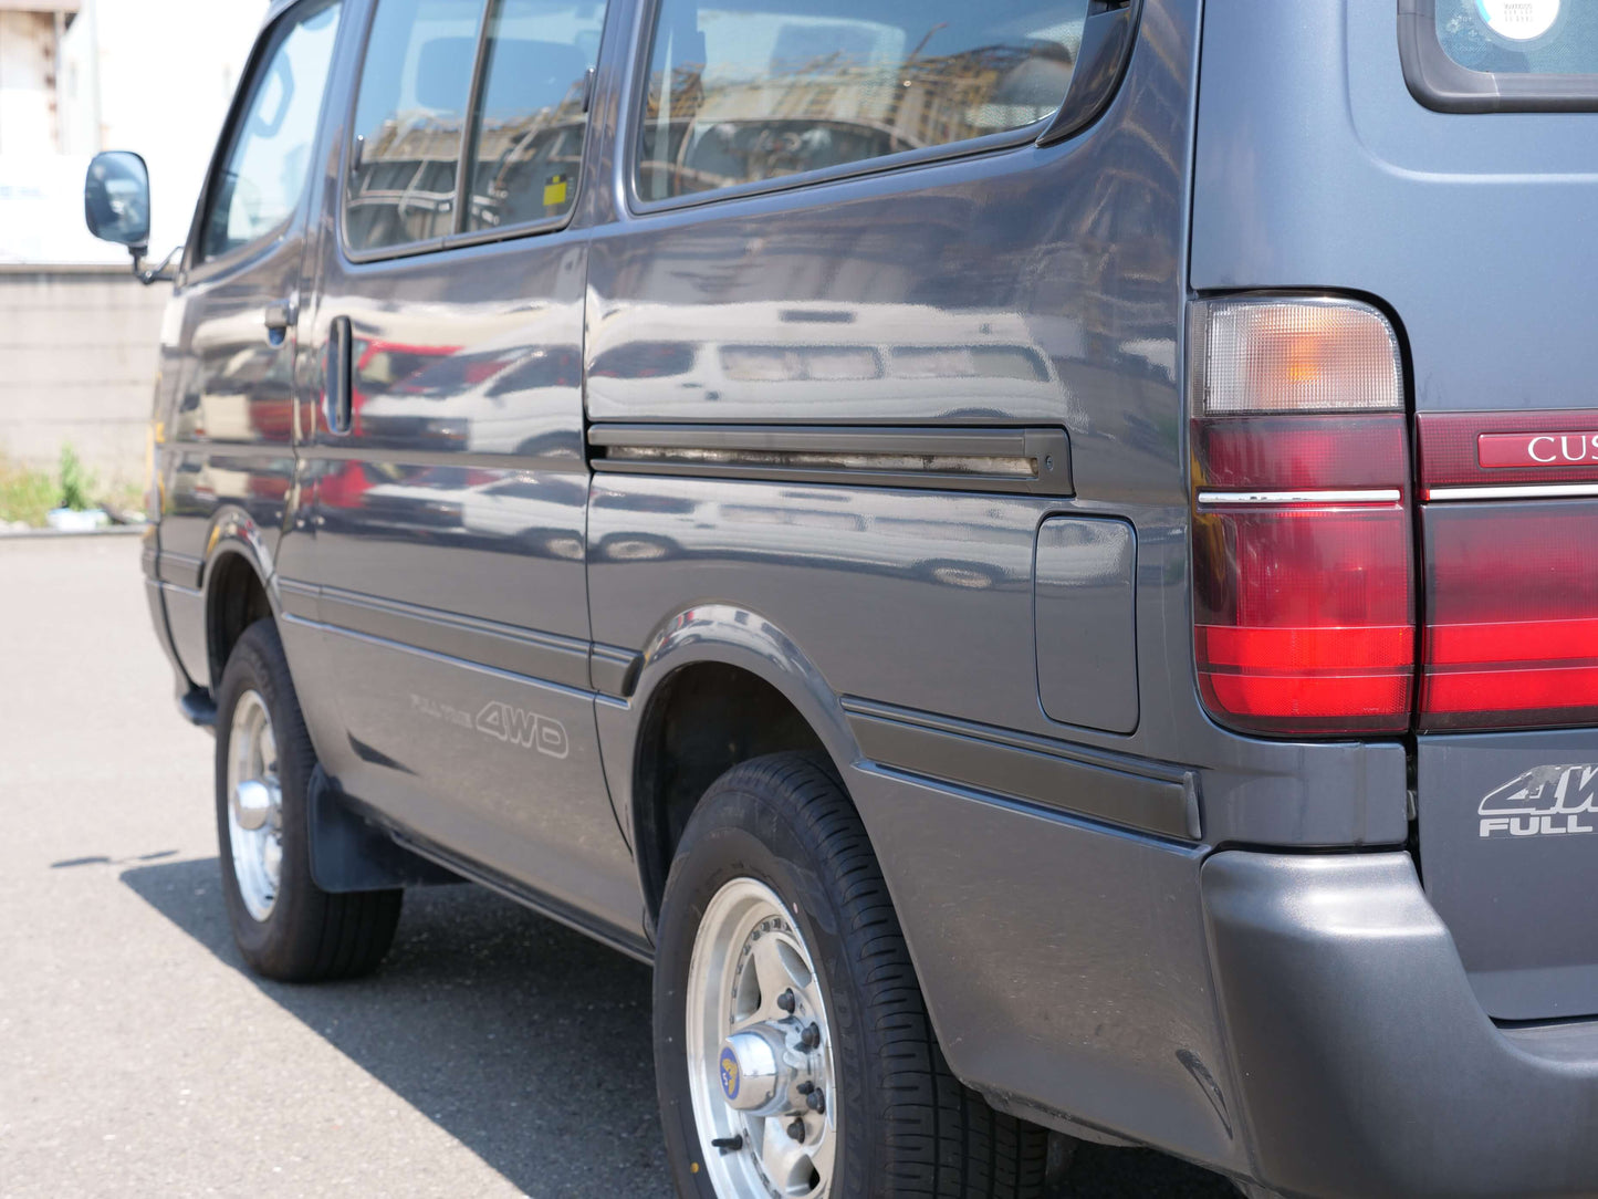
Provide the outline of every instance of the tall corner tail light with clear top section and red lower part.
{"type": "Polygon", "coordinates": [[[1246,732],[1403,732],[1416,600],[1392,326],[1354,301],[1202,301],[1189,361],[1205,707],[1246,732]]]}

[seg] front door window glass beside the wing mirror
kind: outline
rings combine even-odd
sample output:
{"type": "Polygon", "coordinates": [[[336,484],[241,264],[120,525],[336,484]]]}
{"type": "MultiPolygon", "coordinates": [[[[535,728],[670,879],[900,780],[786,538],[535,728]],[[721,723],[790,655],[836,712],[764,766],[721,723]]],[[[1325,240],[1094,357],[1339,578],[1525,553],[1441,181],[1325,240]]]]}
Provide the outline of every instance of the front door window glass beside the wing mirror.
{"type": "Polygon", "coordinates": [[[201,233],[213,259],[265,237],[300,201],[339,34],[339,5],[284,22],[233,131],[201,233]]]}

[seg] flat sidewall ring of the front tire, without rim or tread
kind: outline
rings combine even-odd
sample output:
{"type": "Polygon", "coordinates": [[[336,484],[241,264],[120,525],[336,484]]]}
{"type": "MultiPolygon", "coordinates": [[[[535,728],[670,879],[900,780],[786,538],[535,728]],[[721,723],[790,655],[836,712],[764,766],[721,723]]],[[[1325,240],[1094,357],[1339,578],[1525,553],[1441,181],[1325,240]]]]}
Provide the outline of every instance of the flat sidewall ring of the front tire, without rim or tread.
{"type": "Polygon", "coordinates": [[[276,630],[270,622],[259,622],[244,630],[238,639],[227,668],[222,671],[222,687],[216,708],[216,828],[222,858],[222,895],[227,902],[233,937],[244,959],[259,970],[280,974],[292,970],[292,929],[304,908],[318,895],[310,876],[307,796],[315,761],[307,761],[305,739],[300,732],[302,718],[288,667],[276,643],[276,630]],[[272,651],[276,651],[275,654],[272,651]],[[278,676],[281,670],[281,678],[278,676]],[[227,767],[232,753],[233,711],[244,692],[254,691],[267,705],[272,718],[272,735],[278,750],[278,783],[283,796],[283,865],[276,902],[264,921],[257,921],[244,906],[238,876],[233,868],[233,844],[229,836],[229,788],[227,767]]]}

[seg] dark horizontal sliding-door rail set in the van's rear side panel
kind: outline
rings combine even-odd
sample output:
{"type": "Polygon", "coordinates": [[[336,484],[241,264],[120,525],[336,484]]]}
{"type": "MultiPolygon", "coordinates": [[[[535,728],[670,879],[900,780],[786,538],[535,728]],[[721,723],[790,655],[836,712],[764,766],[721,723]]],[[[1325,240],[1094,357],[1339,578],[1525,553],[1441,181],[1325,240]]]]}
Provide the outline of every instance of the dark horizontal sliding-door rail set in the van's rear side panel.
{"type": "Polygon", "coordinates": [[[594,470],[1071,496],[1063,428],[593,425],[594,470]]]}

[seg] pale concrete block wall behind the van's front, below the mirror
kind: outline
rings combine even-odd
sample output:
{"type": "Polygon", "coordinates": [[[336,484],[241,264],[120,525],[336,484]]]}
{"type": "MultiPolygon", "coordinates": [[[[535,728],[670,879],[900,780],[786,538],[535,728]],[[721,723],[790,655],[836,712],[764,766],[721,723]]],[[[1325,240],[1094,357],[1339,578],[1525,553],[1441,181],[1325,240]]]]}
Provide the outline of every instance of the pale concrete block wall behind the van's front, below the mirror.
{"type": "Polygon", "coordinates": [[[126,267],[0,265],[0,454],[54,470],[70,443],[105,483],[142,483],[168,285],[126,267]]]}

